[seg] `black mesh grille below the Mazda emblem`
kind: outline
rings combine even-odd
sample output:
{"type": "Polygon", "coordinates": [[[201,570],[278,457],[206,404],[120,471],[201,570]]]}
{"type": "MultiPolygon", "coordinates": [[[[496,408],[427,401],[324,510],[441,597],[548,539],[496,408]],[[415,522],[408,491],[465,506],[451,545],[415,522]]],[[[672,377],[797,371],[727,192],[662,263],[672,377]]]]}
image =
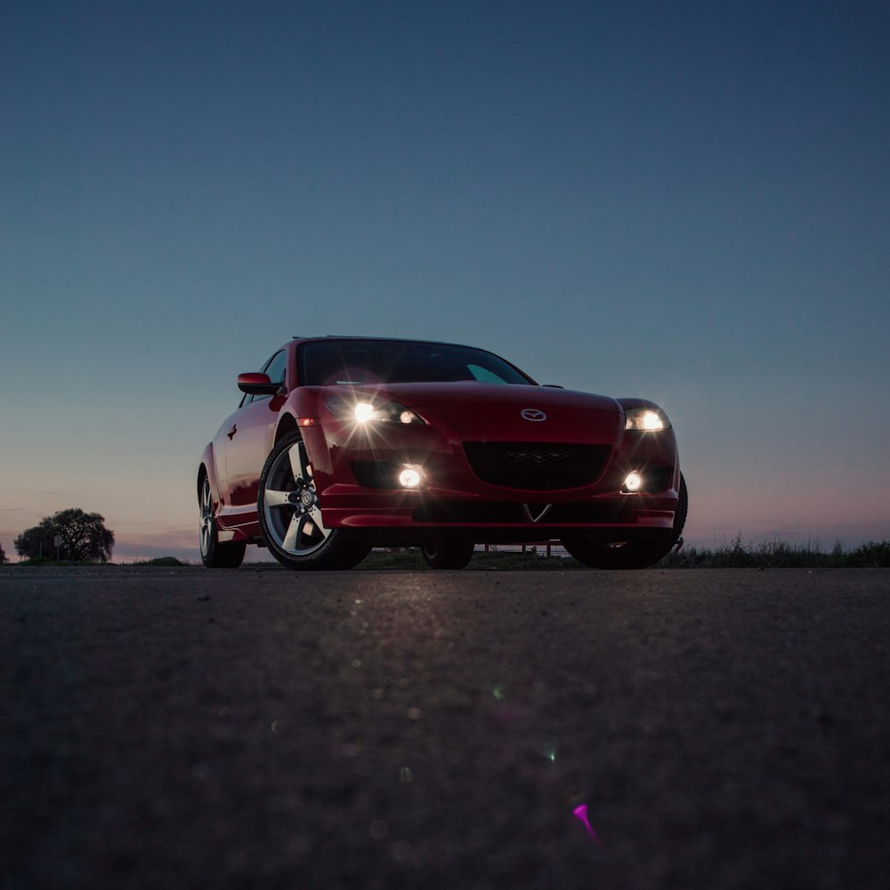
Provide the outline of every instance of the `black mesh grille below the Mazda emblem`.
{"type": "Polygon", "coordinates": [[[557,491],[590,485],[603,473],[609,445],[550,442],[464,442],[464,453],[479,479],[490,485],[529,491],[557,491]]]}

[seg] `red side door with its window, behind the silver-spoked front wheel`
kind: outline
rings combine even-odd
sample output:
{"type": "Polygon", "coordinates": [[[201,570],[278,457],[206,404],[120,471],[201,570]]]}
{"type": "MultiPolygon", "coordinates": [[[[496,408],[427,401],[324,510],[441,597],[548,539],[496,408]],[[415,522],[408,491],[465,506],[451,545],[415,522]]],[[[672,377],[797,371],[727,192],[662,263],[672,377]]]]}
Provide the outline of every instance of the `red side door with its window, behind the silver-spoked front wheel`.
{"type": "Polygon", "coordinates": [[[223,428],[226,476],[231,516],[227,524],[255,522],[256,495],[263,464],[272,447],[278,413],[284,404],[287,350],[280,350],[263,365],[272,383],[280,384],[279,394],[246,396],[241,407],[223,428]]]}

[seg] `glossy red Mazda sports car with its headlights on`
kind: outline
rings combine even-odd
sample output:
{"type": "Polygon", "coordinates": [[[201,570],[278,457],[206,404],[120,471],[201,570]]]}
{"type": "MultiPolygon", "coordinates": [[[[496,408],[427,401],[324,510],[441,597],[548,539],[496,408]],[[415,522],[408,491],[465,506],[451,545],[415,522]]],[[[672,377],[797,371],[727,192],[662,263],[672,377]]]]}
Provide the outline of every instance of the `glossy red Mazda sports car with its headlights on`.
{"type": "Polygon", "coordinates": [[[198,469],[201,556],[247,544],[290,569],[346,569],[374,546],[462,568],[480,543],[560,539],[602,569],[676,545],[686,486],[665,413],[540,386],[492,352],[295,337],[241,374],[198,469]]]}

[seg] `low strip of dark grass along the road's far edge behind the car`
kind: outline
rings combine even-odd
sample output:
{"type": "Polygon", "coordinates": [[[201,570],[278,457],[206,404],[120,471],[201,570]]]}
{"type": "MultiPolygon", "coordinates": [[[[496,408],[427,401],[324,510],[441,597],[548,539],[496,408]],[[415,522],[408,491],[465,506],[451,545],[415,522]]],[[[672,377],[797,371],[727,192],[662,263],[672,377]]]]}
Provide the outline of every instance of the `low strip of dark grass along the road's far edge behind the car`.
{"type": "MultiPolygon", "coordinates": [[[[160,556],[155,559],[137,562],[69,562],[56,561],[45,557],[13,562],[20,566],[149,566],[157,568],[187,568],[199,565],[183,562],[175,556],[160,556]]],[[[425,569],[426,563],[420,551],[414,547],[398,550],[375,550],[364,562],[362,569],[425,569]]],[[[280,568],[278,562],[246,562],[245,568],[280,568]]],[[[469,569],[501,570],[588,570],[577,560],[554,547],[547,556],[546,547],[526,547],[524,551],[514,548],[479,550],[473,554],[469,569]]],[[[830,550],[816,545],[789,544],[786,541],[767,541],[762,544],[744,544],[741,536],[724,545],[708,547],[681,546],[659,562],[657,569],[873,569],[890,568],[890,541],[871,541],[852,549],[836,544],[830,550]]],[[[590,570],[594,571],[594,570],[590,570]]]]}

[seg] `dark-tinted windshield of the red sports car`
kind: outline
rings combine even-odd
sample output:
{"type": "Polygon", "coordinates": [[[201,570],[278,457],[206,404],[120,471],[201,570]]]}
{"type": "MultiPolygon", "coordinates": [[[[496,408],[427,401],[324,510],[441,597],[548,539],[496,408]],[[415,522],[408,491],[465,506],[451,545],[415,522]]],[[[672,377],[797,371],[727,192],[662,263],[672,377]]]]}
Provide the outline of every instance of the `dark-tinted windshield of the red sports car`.
{"type": "Polygon", "coordinates": [[[304,386],[446,383],[533,384],[493,352],[399,340],[316,340],[300,350],[304,386]]]}

